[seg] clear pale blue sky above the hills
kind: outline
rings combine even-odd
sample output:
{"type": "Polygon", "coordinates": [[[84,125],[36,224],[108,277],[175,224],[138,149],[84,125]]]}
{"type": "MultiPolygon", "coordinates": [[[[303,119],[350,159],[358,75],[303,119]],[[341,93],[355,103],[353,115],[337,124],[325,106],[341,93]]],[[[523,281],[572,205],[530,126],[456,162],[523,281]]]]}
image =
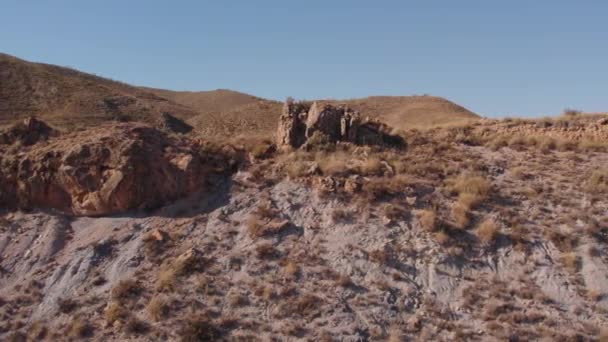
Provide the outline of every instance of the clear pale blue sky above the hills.
{"type": "Polygon", "coordinates": [[[0,51],[175,90],[608,111],[606,0],[1,0],[0,51]]]}

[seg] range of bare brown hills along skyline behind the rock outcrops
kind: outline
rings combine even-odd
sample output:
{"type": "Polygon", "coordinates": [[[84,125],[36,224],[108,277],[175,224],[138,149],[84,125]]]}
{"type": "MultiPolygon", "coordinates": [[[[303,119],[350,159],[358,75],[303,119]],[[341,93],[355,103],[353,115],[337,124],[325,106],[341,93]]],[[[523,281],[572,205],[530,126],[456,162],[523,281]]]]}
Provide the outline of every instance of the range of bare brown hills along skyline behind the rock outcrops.
{"type": "MultiPolygon", "coordinates": [[[[297,94],[295,94],[297,95],[297,94]]],[[[395,128],[426,128],[478,116],[433,96],[323,100],[347,104],[395,128]]],[[[232,90],[172,91],[131,86],[66,67],[0,54],[0,126],[35,115],[64,129],[109,120],[155,122],[162,113],[204,136],[272,135],[282,104],[232,90]]]]}

